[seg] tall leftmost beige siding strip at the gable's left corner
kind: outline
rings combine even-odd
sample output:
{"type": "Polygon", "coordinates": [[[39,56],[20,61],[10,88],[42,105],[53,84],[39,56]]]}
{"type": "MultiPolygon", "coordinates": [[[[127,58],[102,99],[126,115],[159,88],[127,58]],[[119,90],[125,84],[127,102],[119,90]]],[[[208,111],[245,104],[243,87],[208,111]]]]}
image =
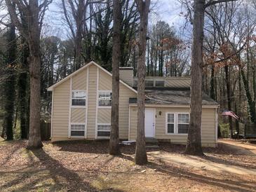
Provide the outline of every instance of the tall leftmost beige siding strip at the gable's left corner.
{"type": "Polygon", "coordinates": [[[53,97],[53,135],[52,137],[67,138],[69,130],[69,90],[70,80],[54,88],[53,97]]]}

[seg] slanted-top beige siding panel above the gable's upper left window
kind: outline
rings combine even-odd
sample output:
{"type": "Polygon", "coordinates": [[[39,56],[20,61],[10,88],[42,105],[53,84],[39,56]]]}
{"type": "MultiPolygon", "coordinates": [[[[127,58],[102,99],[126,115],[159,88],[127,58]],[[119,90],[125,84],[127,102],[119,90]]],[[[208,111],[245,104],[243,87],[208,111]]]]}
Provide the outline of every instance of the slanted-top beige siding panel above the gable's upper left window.
{"type": "Polygon", "coordinates": [[[86,90],[87,69],[72,76],[72,90],[86,90]]]}

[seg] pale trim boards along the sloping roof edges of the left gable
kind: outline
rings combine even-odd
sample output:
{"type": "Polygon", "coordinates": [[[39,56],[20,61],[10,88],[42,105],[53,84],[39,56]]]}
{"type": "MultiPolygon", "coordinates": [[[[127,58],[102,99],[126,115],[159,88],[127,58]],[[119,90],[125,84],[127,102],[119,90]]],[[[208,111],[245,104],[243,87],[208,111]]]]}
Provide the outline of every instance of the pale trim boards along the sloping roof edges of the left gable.
{"type": "MultiPolygon", "coordinates": [[[[99,64],[95,63],[94,61],[88,62],[88,64],[85,64],[83,67],[81,67],[80,69],[77,69],[76,71],[74,71],[72,74],[69,74],[68,76],[66,76],[65,78],[63,78],[62,80],[58,81],[57,83],[51,85],[50,87],[47,88],[48,91],[52,91],[53,88],[57,87],[58,85],[60,85],[61,83],[64,83],[65,81],[67,81],[69,78],[71,78],[72,76],[74,76],[75,74],[78,74],[80,71],[82,71],[83,69],[86,69],[87,67],[90,67],[90,65],[94,64],[96,67],[100,68],[102,71],[105,71],[105,73],[109,74],[109,76],[112,76],[112,74],[107,71],[106,69],[104,69],[103,67],[101,67],[99,64]]],[[[132,90],[133,92],[137,93],[137,90],[135,90],[134,88],[130,87],[130,85],[128,85],[127,83],[124,83],[123,81],[119,80],[120,83],[122,83],[123,85],[125,85],[128,89],[132,90]]]]}

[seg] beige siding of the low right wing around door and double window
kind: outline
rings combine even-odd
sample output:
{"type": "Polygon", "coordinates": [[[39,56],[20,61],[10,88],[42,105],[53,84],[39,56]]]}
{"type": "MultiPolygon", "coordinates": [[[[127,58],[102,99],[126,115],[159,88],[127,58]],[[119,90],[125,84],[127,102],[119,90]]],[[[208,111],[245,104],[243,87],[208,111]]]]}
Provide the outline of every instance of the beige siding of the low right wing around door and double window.
{"type": "MultiPolygon", "coordinates": [[[[185,144],[187,135],[166,135],[166,112],[189,113],[189,108],[156,107],[156,139],[170,139],[170,142],[185,144]],[[161,116],[159,115],[161,111],[161,116]]],[[[136,138],[137,109],[130,110],[130,140],[136,138]]],[[[214,146],[215,144],[215,109],[203,108],[201,126],[202,144],[214,146]]]]}

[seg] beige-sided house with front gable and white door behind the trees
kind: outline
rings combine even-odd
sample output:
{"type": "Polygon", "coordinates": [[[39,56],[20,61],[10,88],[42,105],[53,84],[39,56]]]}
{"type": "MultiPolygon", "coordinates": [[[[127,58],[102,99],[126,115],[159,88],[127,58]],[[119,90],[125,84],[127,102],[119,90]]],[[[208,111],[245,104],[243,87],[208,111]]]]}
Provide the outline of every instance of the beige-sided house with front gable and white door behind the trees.
{"type": "MultiPolygon", "coordinates": [[[[135,140],[137,79],[133,68],[120,68],[119,137],[135,140]]],[[[145,136],[185,144],[189,126],[190,78],[147,77],[145,136]]],[[[112,74],[95,62],[50,86],[53,92],[51,139],[107,139],[111,123],[112,74]]],[[[203,146],[217,145],[218,104],[203,95],[203,146]]]]}

